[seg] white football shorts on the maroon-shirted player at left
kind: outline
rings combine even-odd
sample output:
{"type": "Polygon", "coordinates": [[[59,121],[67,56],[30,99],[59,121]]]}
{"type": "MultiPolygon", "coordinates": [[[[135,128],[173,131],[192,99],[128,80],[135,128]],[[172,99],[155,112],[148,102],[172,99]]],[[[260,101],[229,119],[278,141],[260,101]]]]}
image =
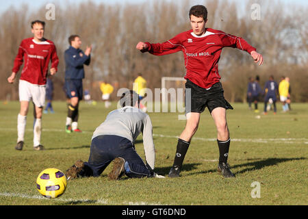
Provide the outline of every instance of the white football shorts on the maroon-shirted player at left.
{"type": "Polygon", "coordinates": [[[19,101],[33,101],[37,107],[44,107],[46,85],[19,80],[19,101]]]}

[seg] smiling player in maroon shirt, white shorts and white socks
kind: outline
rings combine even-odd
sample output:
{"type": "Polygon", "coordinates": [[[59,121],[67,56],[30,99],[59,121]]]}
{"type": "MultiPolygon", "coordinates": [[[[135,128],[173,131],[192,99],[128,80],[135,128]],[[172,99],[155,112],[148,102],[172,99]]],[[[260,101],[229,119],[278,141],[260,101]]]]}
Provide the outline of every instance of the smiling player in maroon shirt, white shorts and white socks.
{"type": "Polygon", "coordinates": [[[17,144],[16,150],[22,150],[25,136],[25,126],[27,123],[27,113],[29,101],[34,103],[34,150],[40,151],[44,146],[40,144],[42,130],[42,110],[44,107],[46,94],[46,81],[49,62],[51,62],[50,74],[57,72],[57,57],[55,44],[44,38],[44,21],[32,21],[31,31],[33,37],[21,41],[18,53],[14,60],[12,75],[8,77],[9,83],[14,83],[16,74],[25,60],[21,77],[19,79],[19,101],[21,110],[17,118],[17,144]]]}

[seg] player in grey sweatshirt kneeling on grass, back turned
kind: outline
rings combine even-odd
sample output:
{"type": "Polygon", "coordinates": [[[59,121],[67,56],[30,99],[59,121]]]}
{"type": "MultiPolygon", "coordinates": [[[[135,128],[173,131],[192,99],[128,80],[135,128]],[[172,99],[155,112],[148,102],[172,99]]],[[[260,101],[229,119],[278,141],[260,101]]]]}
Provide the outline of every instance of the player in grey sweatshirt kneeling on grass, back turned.
{"type": "Polygon", "coordinates": [[[66,170],[66,177],[101,175],[114,161],[109,179],[118,179],[124,173],[127,177],[162,177],[153,172],[155,166],[155,146],[153,127],[148,114],[138,109],[139,96],[130,90],[120,99],[122,108],[114,110],[92,136],[88,162],[77,161],[66,170]],[[136,153],[134,142],[142,132],[146,164],[136,153]]]}

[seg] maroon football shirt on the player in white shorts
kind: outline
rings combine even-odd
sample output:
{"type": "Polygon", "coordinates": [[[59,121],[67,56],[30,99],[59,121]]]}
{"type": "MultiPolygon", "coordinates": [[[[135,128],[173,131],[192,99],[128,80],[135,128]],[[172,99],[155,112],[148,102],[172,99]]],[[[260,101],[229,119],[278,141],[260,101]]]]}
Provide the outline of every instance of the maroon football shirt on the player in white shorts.
{"type": "Polygon", "coordinates": [[[25,64],[20,79],[38,85],[46,84],[49,62],[51,61],[51,68],[55,70],[59,64],[55,45],[50,40],[36,42],[34,38],[27,38],[21,41],[12,72],[18,73],[23,64],[23,58],[25,58],[25,64]]]}

